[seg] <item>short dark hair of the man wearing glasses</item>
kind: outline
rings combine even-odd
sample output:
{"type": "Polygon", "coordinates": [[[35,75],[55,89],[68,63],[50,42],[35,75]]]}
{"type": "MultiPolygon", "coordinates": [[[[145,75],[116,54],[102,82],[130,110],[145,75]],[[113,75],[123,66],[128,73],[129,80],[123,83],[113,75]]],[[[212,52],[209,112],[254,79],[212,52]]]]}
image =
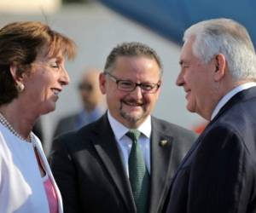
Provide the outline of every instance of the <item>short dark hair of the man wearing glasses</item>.
{"type": "Polygon", "coordinates": [[[114,62],[119,56],[145,56],[154,59],[160,67],[160,75],[162,75],[162,64],[159,55],[144,43],[131,42],[117,45],[108,55],[104,72],[112,72],[114,62]]]}

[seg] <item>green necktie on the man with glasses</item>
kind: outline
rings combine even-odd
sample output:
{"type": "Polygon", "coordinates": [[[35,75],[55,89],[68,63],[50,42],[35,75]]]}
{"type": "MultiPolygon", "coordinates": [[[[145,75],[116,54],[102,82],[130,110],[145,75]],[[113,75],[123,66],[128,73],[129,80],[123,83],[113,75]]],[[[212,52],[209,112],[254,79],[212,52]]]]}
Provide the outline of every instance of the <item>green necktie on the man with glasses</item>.
{"type": "Polygon", "coordinates": [[[132,141],[129,156],[129,176],[137,213],[146,213],[148,210],[149,174],[144,162],[143,152],[138,143],[141,133],[138,130],[130,130],[126,135],[132,141]]]}

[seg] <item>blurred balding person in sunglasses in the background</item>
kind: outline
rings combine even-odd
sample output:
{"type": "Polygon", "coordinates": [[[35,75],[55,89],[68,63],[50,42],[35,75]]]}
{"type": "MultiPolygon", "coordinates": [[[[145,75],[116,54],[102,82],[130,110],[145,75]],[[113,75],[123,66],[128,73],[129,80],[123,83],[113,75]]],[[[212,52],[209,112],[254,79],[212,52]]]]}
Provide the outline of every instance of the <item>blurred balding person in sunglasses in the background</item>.
{"type": "Polygon", "coordinates": [[[100,73],[96,68],[85,70],[78,86],[83,109],[73,115],[61,118],[56,125],[54,137],[67,131],[79,130],[82,126],[100,118],[106,111],[105,97],[99,86],[100,73]]]}

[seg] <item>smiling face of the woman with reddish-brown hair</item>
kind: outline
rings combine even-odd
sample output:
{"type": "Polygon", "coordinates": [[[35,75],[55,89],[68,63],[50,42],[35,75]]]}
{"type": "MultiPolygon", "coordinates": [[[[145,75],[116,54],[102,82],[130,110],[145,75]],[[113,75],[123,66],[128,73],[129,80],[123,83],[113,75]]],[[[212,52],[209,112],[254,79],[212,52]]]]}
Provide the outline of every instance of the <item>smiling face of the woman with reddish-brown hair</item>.
{"type": "Polygon", "coordinates": [[[60,51],[57,55],[49,56],[42,51],[32,62],[31,72],[23,74],[23,77],[25,89],[20,97],[24,104],[38,115],[54,111],[59,93],[69,83],[64,55],[60,51]]]}

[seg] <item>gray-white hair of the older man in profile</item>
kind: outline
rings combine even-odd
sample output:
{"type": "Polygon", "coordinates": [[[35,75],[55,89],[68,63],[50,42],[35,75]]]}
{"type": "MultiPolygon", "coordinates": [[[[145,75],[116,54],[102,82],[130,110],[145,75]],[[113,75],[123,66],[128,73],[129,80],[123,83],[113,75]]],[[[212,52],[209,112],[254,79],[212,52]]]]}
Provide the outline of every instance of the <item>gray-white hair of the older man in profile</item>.
{"type": "Polygon", "coordinates": [[[255,80],[256,59],[251,38],[244,26],[230,19],[205,20],[190,26],[183,41],[195,38],[193,53],[206,64],[223,54],[234,80],[255,80]]]}

